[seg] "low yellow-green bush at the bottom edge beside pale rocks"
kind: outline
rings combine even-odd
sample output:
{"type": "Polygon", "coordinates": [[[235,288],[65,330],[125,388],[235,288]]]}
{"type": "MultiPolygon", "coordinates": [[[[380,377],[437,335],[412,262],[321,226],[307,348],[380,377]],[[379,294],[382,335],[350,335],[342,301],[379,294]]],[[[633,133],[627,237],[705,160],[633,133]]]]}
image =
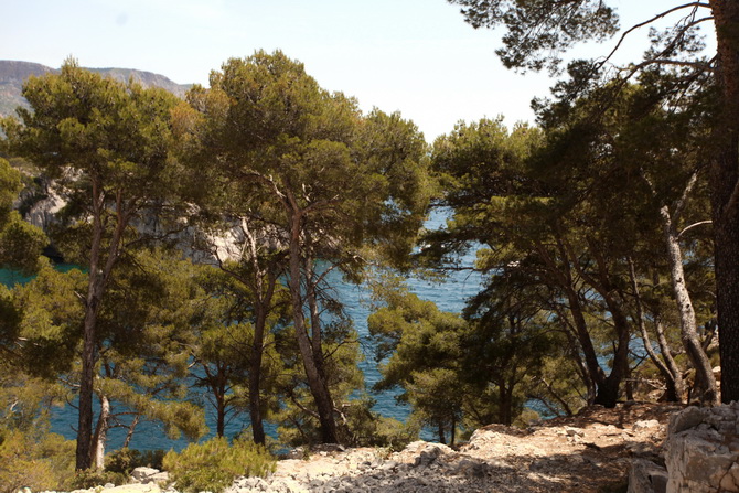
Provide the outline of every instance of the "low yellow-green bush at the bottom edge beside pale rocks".
{"type": "Polygon", "coordinates": [[[213,438],[204,443],[191,443],[182,452],[170,451],[164,456],[164,470],[183,493],[221,492],[231,486],[239,475],[266,475],[275,471],[275,459],[246,439],[213,438]]]}

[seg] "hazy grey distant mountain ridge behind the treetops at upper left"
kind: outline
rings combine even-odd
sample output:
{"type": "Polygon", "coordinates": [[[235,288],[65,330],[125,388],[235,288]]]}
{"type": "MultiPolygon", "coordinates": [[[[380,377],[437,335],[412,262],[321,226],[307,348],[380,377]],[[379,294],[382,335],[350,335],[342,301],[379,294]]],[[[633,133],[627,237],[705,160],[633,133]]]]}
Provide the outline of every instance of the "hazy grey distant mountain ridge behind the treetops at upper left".
{"type": "MultiPolygon", "coordinates": [[[[121,82],[128,82],[132,77],[143,87],[161,87],[179,97],[184,97],[185,92],[191,87],[189,84],[176,84],[163,75],[132,68],[87,69],[121,82]]],[[[17,107],[28,106],[23,96],[21,96],[23,82],[26,78],[31,75],[39,76],[57,72],[57,68],[51,68],[39,63],[0,60],[0,116],[14,115],[17,107]]]]}

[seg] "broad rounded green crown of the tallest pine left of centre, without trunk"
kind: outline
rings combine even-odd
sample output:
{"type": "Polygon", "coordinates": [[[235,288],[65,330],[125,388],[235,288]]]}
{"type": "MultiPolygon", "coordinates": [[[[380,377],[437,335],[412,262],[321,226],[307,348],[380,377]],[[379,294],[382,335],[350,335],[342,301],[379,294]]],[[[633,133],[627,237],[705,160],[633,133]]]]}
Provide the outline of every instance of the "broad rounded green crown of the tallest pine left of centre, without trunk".
{"type": "Polygon", "coordinates": [[[212,74],[211,89],[196,87],[189,100],[197,114],[183,115],[190,124],[182,127],[200,144],[195,184],[213,185],[199,196],[203,205],[246,216],[258,204],[259,218],[289,231],[279,197],[292,196],[310,217],[301,227],[314,255],[347,275],[356,261],[339,261],[358,249],[396,261],[409,253],[431,185],[413,122],[379,110],[363,116],[355,100],[322,89],[281,52],[229,60],[212,74]],[[213,165],[203,170],[203,162],[213,165]]]}

